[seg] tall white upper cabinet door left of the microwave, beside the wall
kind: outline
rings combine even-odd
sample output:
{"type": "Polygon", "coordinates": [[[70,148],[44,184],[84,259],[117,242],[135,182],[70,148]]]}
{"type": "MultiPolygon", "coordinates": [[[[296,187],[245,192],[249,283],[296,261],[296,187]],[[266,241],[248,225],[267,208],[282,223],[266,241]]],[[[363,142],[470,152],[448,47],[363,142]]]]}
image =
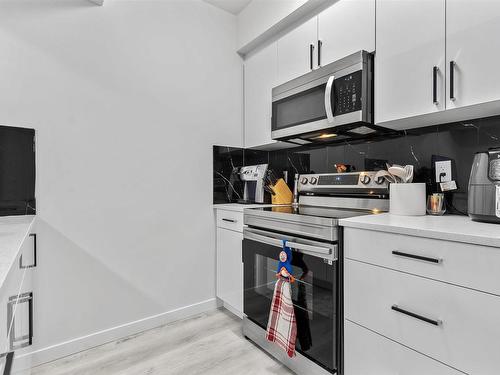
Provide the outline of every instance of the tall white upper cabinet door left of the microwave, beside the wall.
{"type": "Polygon", "coordinates": [[[245,147],[275,143],[271,139],[271,91],[278,80],[276,43],[245,60],[245,147]]]}

